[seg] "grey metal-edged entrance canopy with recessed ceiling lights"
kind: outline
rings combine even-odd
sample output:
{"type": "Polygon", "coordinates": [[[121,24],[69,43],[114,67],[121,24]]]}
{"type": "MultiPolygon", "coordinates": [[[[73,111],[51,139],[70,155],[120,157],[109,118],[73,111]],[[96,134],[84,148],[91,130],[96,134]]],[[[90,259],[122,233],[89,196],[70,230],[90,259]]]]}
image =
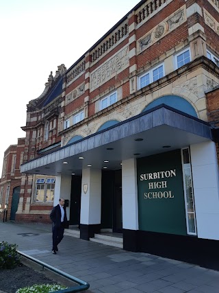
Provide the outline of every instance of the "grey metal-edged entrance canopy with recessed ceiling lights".
{"type": "Polygon", "coordinates": [[[213,140],[213,134],[207,122],[162,104],[29,161],[21,165],[21,173],[57,176],[79,175],[88,167],[120,169],[126,159],[209,140],[213,140]]]}

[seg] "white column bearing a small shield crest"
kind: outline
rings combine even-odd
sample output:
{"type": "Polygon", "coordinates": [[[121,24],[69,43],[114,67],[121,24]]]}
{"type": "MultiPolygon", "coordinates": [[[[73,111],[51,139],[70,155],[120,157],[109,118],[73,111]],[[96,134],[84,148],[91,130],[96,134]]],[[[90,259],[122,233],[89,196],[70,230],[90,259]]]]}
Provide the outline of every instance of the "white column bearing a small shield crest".
{"type": "Polygon", "coordinates": [[[83,169],[81,185],[81,224],[101,224],[101,169],[83,169]]]}

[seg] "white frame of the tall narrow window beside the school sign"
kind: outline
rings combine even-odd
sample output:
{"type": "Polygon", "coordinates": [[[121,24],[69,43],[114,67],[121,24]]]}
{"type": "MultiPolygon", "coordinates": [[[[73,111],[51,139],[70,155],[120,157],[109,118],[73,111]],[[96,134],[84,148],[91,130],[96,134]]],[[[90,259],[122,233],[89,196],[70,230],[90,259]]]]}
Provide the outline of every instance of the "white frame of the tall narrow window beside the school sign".
{"type": "MultiPolygon", "coordinates": [[[[183,167],[183,150],[188,150],[189,156],[190,156],[190,148],[182,148],[181,149],[181,164],[182,164],[182,171],[183,171],[183,192],[184,192],[184,199],[185,199],[185,219],[186,219],[186,229],[188,235],[197,235],[197,225],[196,225],[196,209],[195,209],[195,202],[194,202],[194,189],[193,189],[193,179],[191,180],[192,184],[192,200],[193,200],[193,207],[194,207],[194,228],[195,232],[192,233],[189,231],[189,219],[188,219],[188,208],[187,208],[187,197],[186,197],[186,187],[185,187],[185,172],[183,167]]],[[[192,178],[192,165],[191,165],[191,156],[190,156],[190,172],[191,172],[191,178],[192,178]]]]}

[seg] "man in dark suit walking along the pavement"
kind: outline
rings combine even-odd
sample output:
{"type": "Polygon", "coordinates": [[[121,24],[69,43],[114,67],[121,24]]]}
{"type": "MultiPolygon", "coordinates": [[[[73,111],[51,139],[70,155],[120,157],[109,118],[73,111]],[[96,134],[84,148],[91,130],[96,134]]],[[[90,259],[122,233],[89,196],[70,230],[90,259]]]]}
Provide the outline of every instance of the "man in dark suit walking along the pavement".
{"type": "Polygon", "coordinates": [[[64,228],[67,226],[66,210],[64,209],[64,198],[59,199],[59,204],[53,207],[50,218],[53,221],[53,255],[58,251],[57,245],[62,241],[64,228]]]}

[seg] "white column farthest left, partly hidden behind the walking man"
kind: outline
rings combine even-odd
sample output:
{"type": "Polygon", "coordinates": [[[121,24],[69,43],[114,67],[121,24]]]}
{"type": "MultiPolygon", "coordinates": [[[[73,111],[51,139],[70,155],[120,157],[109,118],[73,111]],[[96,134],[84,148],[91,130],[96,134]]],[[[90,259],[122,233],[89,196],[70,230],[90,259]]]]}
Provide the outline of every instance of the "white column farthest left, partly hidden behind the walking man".
{"type": "Polygon", "coordinates": [[[67,219],[70,218],[70,191],[71,191],[71,175],[55,176],[55,195],[54,206],[59,203],[60,198],[69,200],[69,207],[66,207],[67,219]]]}

